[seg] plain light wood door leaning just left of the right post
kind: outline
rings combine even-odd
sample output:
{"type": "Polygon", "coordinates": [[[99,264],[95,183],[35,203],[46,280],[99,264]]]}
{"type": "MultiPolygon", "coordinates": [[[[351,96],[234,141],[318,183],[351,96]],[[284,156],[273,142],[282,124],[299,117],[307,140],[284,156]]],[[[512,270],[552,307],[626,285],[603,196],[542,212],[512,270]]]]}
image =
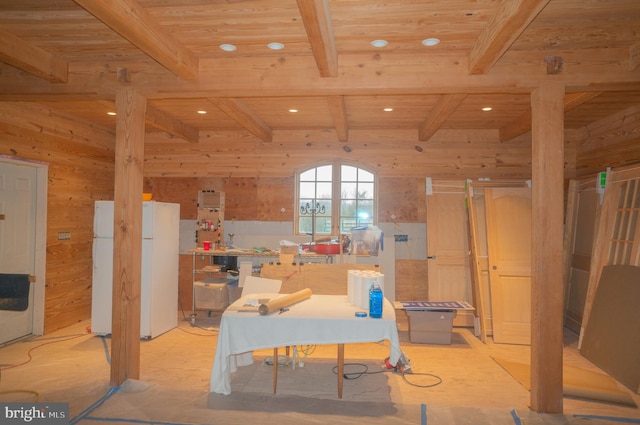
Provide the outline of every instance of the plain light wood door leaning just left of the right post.
{"type": "Polygon", "coordinates": [[[531,189],[486,188],[493,340],[531,343],[531,189]]]}

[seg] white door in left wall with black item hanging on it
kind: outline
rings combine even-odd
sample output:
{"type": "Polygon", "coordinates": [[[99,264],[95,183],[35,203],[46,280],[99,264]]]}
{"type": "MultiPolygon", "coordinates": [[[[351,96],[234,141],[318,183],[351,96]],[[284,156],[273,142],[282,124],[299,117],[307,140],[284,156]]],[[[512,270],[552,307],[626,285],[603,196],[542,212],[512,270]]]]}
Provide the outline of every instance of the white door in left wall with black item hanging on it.
{"type": "MultiPolygon", "coordinates": [[[[0,273],[36,274],[37,168],[0,162],[0,273]]],[[[25,311],[0,310],[0,343],[31,334],[35,284],[25,311]]]]}

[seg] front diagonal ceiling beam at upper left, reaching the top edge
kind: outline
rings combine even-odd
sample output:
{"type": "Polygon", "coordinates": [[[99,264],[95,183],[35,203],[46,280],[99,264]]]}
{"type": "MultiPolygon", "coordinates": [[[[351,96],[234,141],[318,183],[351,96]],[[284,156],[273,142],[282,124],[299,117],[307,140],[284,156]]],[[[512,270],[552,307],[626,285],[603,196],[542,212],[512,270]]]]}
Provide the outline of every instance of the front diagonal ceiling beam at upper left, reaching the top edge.
{"type": "Polygon", "coordinates": [[[74,1],[178,77],[192,80],[198,76],[198,57],[135,0],[74,1]]]}

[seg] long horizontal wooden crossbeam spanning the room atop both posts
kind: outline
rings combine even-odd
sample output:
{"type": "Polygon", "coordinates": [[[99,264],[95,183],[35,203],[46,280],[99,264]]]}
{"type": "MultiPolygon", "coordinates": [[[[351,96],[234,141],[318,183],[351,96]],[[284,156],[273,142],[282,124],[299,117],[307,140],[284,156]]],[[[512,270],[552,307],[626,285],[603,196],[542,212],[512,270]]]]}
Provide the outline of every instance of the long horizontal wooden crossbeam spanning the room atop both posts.
{"type": "MultiPolygon", "coordinates": [[[[638,91],[640,73],[629,71],[629,48],[563,52],[565,70],[553,78],[567,92],[638,91]]],[[[489,74],[469,75],[466,56],[459,53],[428,57],[405,54],[340,56],[340,76],[322,78],[309,56],[234,57],[203,59],[195,81],[176,78],[151,59],[130,62],[132,85],[148,99],[331,96],[425,95],[466,92],[528,94],[548,78],[541,72],[544,52],[508,52],[489,74]],[[513,66],[518,64],[518,72],[513,66]],[[393,69],[394,72],[386,72],[393,69]],[[310,75],[312,74],[312,75],[310,75]]],[[[112,99],[122,83],[117,68],[101,62],[69,63],[69,83],[51,84],[16,68],[0,64],[0,100],[44,101],[112,99]]]]}

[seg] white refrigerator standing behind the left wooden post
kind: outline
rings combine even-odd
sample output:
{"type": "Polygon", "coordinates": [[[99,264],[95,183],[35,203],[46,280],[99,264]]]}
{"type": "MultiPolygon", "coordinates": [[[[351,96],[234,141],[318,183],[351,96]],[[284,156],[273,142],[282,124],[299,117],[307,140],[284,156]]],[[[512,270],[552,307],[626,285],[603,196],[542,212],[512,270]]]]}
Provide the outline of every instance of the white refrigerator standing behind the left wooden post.
{"type": "MultiPolygon", "coordinates": [[[[180,205],[142,203],[140,338],[155,338],[178,325],[180,205]]],[[[91,331],[111,334],[113,201],[97,201],[93,219],[91,331]]]]}

